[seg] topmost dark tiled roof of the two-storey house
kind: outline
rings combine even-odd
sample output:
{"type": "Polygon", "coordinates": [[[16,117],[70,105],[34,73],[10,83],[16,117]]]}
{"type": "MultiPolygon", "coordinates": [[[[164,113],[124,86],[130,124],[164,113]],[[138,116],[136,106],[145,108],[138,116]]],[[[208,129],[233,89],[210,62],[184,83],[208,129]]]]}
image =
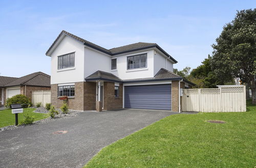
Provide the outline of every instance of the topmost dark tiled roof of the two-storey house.
{"type": "Polygon", "coordinates": [[[91,48],[97,49],[101,52],[104,52],[106,54],[109,55],[117,55],[117,54],[121,54],[121,53],[125,53],[125,52],[131,52],[131,51],[135,51],[135,50],[140,50],[140,49],[146,49],[146,48],[157,48],[159,49],[161,52],[163,52],[165,55],[167,55],[167,57],[169,57],[172,61],[174,61],[175,63],[177,63],[177,61],[172,58],[166,51],[164,51],[159,45],[157,45],[156,43],[145,43],[145,42],[138,42],[138,43],[134,43],[134,44],[129,44],[129,45],[124,45],[124,46],[120,46],[120,47],[116,47],[116,48],[111,48],[111,49],[106,49],[103,48],[99,45],[96,45],[92,42],[89,42],[87,40],[84,40],[80,37],[77,37],[69,32],[66,31],[61,31],[60,34],[58,35],[58,37],[55,39],[55,41],[52,43],[52,45],[50,46],[50,48],[46,51],[46,55],[50,52],[50,50],[53,48],[53,46],[55,45],[55,43],[58,41],[58,39],[61,37],[62,34],[65,34],[69,37],[72,37],[80,42],[82,42],[84,45],[89,46],[91,48]]]}

